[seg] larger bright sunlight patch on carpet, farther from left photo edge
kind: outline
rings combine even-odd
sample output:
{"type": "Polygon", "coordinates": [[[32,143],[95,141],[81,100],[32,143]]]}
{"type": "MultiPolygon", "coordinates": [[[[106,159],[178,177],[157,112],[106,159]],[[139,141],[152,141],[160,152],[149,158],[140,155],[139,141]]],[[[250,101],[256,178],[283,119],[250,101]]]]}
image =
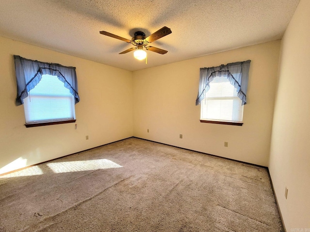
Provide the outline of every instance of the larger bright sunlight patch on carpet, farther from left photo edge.
{"type": "Polygon", "coordinates": [[[99,170],[99,169],[122,168],[123,167],[107,159],[47,163],[47,166],[54,173],[81,172],[81,171],[92,171],[92,170],[99,170]]]}

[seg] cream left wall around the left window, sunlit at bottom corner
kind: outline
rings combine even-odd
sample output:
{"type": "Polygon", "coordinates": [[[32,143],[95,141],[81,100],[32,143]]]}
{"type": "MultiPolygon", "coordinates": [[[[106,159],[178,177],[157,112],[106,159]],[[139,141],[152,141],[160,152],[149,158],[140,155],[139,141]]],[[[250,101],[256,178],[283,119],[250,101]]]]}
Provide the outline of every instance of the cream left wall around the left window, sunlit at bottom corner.
{"type": "Polygon", "coordinates": [[[0,71],[0,174],[133,135],[132,72],[2,37],[0,71]],[[74,123],[24,126],[13,55],[77,67],[77,130],[74,123]]]}

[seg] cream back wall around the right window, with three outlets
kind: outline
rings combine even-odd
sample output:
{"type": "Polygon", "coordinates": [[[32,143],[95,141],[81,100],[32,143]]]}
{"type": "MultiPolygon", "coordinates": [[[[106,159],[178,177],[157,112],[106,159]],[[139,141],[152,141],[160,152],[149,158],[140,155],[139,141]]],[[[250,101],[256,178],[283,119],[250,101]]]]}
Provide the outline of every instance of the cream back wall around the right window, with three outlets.
{"type": "Polygon", "coordinates": [[[279,49],[275,41],[134,72],[134,136],[267,166],[279,49]],[[247,59],[244,125],[201,123],[195,105],[200,68],[247,59]]]}

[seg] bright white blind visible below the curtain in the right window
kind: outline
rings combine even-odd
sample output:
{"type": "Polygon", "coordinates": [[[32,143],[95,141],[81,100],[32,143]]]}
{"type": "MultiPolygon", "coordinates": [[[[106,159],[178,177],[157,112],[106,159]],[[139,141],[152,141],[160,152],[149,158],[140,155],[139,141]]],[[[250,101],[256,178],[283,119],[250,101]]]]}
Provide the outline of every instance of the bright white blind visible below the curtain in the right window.
{"type": "Polygon", "coordinates": [[[242,122],[243,105],[236,88],[226,77],[215,77],[201,102],[201,119],[242,122]]]}

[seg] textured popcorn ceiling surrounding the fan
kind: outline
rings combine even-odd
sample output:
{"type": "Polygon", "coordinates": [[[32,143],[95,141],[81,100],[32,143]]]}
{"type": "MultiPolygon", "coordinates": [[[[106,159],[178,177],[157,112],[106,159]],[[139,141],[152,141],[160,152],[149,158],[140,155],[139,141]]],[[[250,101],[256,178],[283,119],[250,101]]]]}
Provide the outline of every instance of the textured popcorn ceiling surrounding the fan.
{"type": "MultiPolygon", "coordinates": [[[[299,0],[0,0],[0,36],[135,71],[220,51],[281,39],[299,0]],[[172,33],[147,51],[148,63],[130,39],[167,26],[172,33]]],[[[18,54],[17,54],[18,55],[18,54]]],[[[43,60],[44,61],[44,60],[43,60]]]]}

